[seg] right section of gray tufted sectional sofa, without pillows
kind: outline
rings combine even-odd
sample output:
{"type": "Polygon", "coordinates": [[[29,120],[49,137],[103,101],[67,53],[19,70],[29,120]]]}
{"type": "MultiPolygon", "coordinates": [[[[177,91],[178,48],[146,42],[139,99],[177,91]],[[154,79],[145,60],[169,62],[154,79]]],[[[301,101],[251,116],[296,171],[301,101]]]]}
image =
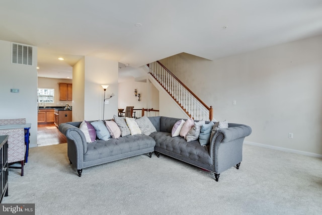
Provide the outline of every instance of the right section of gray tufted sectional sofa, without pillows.
{"type": "Polygon", "coordinates": [[[150,134],[155,140],[157,156],[164,154],[208,170],[214,173],[216,181],[221,172],[232,166],[239,168],[244,139],[252,132],[248,125],[229,123],[228,128],[217,130],[209,145],[201,146],[199,140],[187,142],[181,136],[171,136],[173,125],[180,119],[158,116],[150,120],[157,130],[150,134]]]}

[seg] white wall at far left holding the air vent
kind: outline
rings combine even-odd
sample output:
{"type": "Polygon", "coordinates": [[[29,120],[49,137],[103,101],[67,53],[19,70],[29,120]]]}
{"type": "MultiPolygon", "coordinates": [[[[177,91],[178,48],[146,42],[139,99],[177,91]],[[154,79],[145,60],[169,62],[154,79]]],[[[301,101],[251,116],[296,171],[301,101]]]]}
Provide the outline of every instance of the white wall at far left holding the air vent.
{"type": "Polygon", "coordinates": [[[31,123],[30,147],[36,147],[37,47],[33,47],[32,66],[12,64],[11,42],[0,40],[0,74],[0,118],[26,118],[31,123]],[[19,89],[19,93],[11,93],[10,89],[19,89]]]}

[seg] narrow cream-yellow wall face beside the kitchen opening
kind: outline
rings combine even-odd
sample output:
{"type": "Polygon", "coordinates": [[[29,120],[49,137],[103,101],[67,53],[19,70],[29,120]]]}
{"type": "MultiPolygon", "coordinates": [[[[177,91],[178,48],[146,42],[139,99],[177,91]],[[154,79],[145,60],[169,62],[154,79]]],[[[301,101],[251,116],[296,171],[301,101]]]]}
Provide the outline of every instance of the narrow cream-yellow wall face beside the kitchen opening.
{"type": "Polygon", "coordinates": [[[85,57],[72,67],[72,121],[84,120],[85,57]]]}

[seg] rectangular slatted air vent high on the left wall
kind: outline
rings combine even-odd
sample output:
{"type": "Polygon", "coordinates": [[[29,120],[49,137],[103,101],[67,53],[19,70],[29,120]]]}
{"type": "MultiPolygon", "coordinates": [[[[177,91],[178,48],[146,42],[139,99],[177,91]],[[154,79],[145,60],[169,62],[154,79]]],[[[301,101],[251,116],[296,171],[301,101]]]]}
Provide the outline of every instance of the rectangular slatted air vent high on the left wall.
{"type": "Polygon", "coordinates": [[[12,43],[12,63],[32,65],[32,46],[12,43]]]}

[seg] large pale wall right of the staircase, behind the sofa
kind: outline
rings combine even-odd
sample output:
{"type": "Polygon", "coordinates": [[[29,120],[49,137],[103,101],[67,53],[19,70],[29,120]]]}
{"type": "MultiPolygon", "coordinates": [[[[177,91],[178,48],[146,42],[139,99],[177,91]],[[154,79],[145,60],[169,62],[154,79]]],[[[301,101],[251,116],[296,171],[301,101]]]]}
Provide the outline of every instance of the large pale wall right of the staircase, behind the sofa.
{"type": "Polygon", "coordinates": [[[185,53],[160,61],[214,118],[250,125],[247,141],[322,155],[322,36],[214,61],[185,53]]]}

